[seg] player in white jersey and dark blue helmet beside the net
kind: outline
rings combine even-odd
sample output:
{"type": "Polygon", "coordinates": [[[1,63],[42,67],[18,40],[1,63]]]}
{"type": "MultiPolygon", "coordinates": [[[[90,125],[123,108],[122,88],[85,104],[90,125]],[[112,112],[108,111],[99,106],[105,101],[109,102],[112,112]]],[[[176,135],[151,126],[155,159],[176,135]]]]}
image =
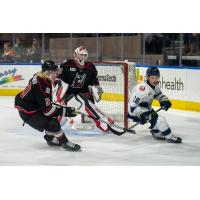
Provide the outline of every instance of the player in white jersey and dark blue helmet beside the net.
{"type": "Polygon", "coordinates": [[[171,107],[171,102],[162,94],[158,83],[160,71],[157,67],[149,67],[145,80],[133,88],[129,101],[128,117],[134,122],[146,124],[149,122],[151,133],[154,138],[167,140],[173,143],[181,143],[182,139],[171,133],[171,129],[163,116],[158,115],[152,108],[153,99],[160,102],[163,110],[167,111],[171,107]]]}

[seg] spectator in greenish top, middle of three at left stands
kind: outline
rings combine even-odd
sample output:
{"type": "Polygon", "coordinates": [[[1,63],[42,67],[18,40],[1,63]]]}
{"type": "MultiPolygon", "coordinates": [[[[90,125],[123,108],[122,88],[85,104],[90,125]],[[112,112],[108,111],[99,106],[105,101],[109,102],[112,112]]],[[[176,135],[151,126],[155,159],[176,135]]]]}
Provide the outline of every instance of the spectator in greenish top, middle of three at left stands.
{"type": "Polygon", "coordinates": [[[15,56],[13,57],[15,62],[23,62],[25,59],[25,49],[22,45],[21,38],[16,38],[16,43],[14,47],[12,48],[13,51],[15,51],[15,56]]]}

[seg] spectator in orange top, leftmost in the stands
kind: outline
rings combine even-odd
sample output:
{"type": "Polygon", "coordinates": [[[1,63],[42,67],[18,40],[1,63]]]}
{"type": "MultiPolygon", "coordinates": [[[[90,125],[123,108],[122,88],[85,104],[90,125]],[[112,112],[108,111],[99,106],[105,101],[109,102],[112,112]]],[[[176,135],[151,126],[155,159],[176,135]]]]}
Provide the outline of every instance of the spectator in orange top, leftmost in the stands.
{"type": "Polygon", "coordinates": [[[12,63],[14,62],[15,51],[11,49],[11,43],[4,43],[4,53],[1,56],[1,62],[12,63]]]}

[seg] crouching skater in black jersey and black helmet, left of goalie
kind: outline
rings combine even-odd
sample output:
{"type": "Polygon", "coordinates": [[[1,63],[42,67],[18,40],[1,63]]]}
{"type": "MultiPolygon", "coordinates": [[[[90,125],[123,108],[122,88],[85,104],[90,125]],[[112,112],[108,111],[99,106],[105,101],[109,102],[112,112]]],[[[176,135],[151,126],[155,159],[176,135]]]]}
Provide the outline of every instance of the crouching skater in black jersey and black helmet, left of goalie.
{"type": "Polygon", "coordinates": [[[49,145],[62,146],[65,150],[78,151],[80,146],[70,142],[61,129],[58,116],[74,117],[75,108],[56,107],[52,104],[51,80],[57,76],[58,66],[53,61],[42,64],[42,71],[34,74],[28,86],[15,97],[15,107],[24,123],[43,132],[49,145]]]}

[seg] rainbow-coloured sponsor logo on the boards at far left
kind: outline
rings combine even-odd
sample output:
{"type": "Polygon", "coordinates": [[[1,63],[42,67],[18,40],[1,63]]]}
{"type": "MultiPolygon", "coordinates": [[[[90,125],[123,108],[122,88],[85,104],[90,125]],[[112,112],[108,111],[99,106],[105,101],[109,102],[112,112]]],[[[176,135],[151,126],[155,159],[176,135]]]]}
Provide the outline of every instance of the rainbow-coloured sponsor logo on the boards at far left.
{"type": "Polygon", "coordinates": [[[16,68],[8,69],[3,72],[0,71],[0,85],[24,80],[22,75],[15,75],[16,72],[17,72],[16,68]]]}

